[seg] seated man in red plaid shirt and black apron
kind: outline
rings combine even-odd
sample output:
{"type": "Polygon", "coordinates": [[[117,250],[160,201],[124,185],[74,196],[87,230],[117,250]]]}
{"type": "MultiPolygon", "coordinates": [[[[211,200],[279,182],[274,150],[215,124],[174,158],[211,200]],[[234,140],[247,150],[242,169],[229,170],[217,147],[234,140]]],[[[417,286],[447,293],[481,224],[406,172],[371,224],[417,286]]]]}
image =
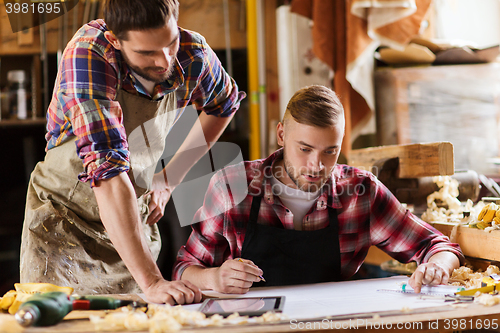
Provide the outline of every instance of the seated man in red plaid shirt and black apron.
{"type": "Polygon", "coordinates": [[[458,244],[407,211],[370,172],[336,164],[344,127],[332,90],[297,91],[277,127],[283,148],[244,162],[246,175],[226,167],[212,178],[174,279],[223,293],[246,293],[256,283],[340,281],[376,245],[419,264],[409,281],[416,292],[446,284],[463,261],[458,244]],[[234,177],[249,185],[235,206],[226,187],[234,177]]]}

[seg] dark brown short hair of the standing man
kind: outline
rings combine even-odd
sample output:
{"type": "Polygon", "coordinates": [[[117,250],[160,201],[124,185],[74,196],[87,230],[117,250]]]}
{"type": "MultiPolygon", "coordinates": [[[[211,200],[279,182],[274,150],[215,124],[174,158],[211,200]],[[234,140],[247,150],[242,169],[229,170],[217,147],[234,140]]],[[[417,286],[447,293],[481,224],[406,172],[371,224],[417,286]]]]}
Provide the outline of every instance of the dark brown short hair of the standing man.
{"type": "Polygon", "coordinates": [[[131,30],[157,29],[173,15],[179,18],[178,0],[106,0],[104,21],[116,38],[127,40],[131,30]]]}

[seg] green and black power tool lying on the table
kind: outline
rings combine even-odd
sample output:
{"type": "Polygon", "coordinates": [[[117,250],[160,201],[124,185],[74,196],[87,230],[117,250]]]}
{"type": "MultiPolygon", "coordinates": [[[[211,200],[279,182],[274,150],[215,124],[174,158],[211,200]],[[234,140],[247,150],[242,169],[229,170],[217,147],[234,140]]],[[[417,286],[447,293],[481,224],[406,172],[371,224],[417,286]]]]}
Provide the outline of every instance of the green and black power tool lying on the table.
{"type": "Polygon", "coordinates": [[[31,296],[16,312],[17,322],[28,326],[51,326],[59,323],[72,310],[113,310],[121,306],[147,306],[146,303],[119,300],[106,296],[71,297],[53,291],[31,296]]]}

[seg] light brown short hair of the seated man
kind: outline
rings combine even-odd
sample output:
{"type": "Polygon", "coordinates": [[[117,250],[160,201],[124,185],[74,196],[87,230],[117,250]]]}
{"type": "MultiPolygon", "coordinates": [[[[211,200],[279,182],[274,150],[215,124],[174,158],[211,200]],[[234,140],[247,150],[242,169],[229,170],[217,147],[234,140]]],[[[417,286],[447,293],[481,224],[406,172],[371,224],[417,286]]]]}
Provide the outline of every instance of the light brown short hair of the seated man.
{"type": "Polygon", "coordinates": [[[301,124],[330,127],[344,121],[344,107],[328,87],[311,85],[298,90],[288,102],[282,123],[288,117],[301,124]]]}

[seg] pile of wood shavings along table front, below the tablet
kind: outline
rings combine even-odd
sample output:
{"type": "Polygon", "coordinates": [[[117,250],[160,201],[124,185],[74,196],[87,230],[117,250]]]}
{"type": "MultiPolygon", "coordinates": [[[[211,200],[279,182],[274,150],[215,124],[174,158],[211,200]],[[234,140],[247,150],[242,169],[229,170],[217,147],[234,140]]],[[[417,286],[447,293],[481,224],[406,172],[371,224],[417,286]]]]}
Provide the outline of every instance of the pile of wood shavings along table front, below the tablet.
{"type": "Polygon", "coordinates": [[[182,306],[150,304],[146,313],[123,307],[111,311],[104,317],[91,315],[90,321],[96,331],[149,331],[150,333],[176,332],[186,327],[214,327],[270,323],[287,320],[282,313],[266,312],[260,317],[240,316],[233,313],[227,318],[220,315],[206,317],[199,311],[190,311],[182,306]]]}

